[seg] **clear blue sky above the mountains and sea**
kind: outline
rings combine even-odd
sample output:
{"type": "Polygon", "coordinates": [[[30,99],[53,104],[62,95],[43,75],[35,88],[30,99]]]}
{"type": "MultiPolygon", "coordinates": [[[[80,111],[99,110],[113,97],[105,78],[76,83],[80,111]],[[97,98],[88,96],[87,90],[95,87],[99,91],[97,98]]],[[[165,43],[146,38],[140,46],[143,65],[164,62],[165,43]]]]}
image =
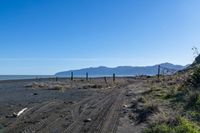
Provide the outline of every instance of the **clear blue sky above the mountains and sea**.
{"type": "Polygon", "coordinates": [[[186,65],[200,0],[1,0],[0,74],[186,65]]]}

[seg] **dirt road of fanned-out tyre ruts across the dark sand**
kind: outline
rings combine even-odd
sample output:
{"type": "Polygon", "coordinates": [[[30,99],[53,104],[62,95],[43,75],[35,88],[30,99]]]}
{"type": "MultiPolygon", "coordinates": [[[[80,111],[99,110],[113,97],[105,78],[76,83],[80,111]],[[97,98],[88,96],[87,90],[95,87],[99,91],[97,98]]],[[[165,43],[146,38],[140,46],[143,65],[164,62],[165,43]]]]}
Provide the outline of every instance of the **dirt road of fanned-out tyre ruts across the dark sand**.
{"type": "MultiPolygon", "coordinates": [[[[48,99],[33,104],[18,118],[10,118],[4,128],[9,133],[115,133],[119,132],[120,115],[130,88],[113,85],[95,90],[77,101],[48,99]]],[[[0,119],[1,120],[1,119],[0,119]]]]}

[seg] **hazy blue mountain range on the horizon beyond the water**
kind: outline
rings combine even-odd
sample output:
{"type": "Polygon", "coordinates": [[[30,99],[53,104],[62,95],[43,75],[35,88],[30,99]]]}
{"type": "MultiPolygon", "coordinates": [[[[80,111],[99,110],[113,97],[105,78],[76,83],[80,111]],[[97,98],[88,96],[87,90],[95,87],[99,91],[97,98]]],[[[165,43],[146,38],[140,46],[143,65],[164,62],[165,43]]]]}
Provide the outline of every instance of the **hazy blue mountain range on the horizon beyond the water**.
{"type": "Polygon", "coordinates": [[[136,75],[156,75],[158,73],[158,66],[161,66],[161,70],[168,71],[178,71],[184,69],[186,66],[174,65],[171,63],[163,63],[154,66],[142,66],[142,67],[132,67],[132,66],[119,66],[115,68],[108,68],[104,66],[100,67],[90,67],[80,70],[70,70],[56,73],[56,76],[70,76],[71,72],[75,76],[84,76],[87,72],[90,76],[108,76],[115,73],[118,76],[136,76],[136,75]]]}

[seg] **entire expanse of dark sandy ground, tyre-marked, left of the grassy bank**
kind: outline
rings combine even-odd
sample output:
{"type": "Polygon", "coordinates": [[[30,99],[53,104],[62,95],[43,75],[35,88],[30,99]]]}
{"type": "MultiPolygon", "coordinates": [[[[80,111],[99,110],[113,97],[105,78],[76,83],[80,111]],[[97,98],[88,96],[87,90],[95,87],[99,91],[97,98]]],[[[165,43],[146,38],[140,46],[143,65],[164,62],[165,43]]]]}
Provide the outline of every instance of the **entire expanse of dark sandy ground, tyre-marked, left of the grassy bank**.
{"type": "Polygon", "coordinates": [[[148,90],[136,78],[1,81],[0,132],[139,133],[146,123],[134,122],[129,106],[148,90]]]}

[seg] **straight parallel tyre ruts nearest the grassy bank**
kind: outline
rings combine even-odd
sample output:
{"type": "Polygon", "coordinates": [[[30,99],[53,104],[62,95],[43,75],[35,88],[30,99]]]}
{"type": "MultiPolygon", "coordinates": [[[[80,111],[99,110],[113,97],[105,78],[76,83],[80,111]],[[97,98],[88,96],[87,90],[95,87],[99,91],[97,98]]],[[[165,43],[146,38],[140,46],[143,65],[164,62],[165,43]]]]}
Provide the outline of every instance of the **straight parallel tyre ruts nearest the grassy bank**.
{"type": "Polygon", "coordinates": [[[80,114],[79,118],[64,132],[116,132],[116,127],[119,120],[119,110],[122,107],[123,94],[124,90],[114,88],[105,96],[91,99],[93,102],[87,103],[88,107],[80,114]],[[91,118],[92,121],[90,123],[84,123],[83,120],[87,118],[91,118]]]}

